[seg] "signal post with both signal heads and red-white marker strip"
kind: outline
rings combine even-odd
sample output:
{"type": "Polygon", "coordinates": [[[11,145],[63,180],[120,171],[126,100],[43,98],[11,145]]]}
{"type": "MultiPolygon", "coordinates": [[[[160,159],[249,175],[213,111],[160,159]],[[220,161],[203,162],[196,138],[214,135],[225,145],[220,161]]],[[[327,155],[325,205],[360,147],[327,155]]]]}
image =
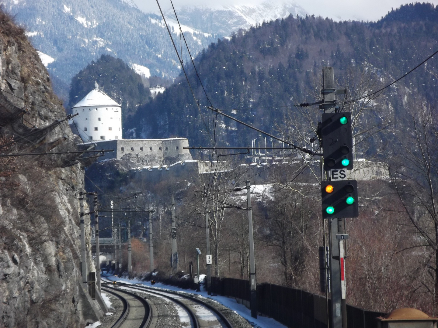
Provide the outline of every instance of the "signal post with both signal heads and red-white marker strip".
{"type": "Polygon", "coordinates": [[[323,177],[321,170],[321,209],[322,217],[329,220],[330,327],[347,328],[344,243],[348,235],[343,222],[345,218],[357,217],[359,206],[357,181],[346,179],[346,170],[353,169],[351,113],[340,112],[336,106],[335,94],[346,94],[346,90],[335,88],[333,67],[322,69],[321,94],[324,100],[320,108],[324,113],[318,124],[318,137],[323,149],[321,164],[326,172],[323,177]]]}

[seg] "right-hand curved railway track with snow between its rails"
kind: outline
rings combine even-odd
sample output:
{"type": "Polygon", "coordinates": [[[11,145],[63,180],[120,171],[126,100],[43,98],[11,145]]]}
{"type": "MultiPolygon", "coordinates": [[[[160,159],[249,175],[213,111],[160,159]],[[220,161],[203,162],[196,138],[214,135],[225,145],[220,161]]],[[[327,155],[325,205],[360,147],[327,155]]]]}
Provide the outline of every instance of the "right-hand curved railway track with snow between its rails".
{"type": "MultiPolygon", "coordinates": [[[[215,307],[195,297],[181,295],[172,291],[163,291],[159,288],[131,285],[117,282],[117,289],[137,291],[155,297],[171,300],[176,307],[180,307],[190,318],[192,328],[233,328],[230,321],[215,307]]],[[[180,311],[178,311],[180,313],[180,311]]],[[[187,322],[188,323],[188,322],[187,322]]]]}

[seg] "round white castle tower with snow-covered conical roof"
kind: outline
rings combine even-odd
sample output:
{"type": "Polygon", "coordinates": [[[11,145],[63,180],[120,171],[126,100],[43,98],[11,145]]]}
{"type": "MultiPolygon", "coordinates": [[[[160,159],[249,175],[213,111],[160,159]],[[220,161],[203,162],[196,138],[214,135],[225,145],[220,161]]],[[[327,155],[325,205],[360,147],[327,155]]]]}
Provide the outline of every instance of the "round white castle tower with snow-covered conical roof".
{"type": "Polygon", "coordinates": [[[95,89],[72,107],[73,120],[84,140],[114,140],[122,138],[122,108],[105,92],[95,89]]]}

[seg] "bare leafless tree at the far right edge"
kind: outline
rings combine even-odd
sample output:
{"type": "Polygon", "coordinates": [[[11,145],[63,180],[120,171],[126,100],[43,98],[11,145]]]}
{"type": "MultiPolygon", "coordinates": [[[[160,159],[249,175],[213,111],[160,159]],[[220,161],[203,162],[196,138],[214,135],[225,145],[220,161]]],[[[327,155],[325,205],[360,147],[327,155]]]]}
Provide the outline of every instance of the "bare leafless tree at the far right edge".
{"type": "MultiPolygon", "coordinates": [[[[438,304],[438,129],[437,112],[425,101],[412,99],[406,116],[398,122],[393,144],[387,151],[392,185],[405,214],[431,251],[425,263],[430,281],[424,286],[430,293],[435,315],[438,304]]],[[[421,246],[421,245],[420,245],[421,246]]]]}

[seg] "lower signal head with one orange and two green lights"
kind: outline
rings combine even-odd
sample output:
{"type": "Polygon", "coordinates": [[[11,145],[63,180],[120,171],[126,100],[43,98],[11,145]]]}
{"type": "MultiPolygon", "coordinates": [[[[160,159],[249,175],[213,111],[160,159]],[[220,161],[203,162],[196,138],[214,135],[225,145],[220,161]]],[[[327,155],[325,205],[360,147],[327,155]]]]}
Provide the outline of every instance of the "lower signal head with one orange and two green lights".
{"type": "Polygon", "coordinates": [[[322,217],[345,218],[359,216],[357,181],[322,181],[322,217]]]}

